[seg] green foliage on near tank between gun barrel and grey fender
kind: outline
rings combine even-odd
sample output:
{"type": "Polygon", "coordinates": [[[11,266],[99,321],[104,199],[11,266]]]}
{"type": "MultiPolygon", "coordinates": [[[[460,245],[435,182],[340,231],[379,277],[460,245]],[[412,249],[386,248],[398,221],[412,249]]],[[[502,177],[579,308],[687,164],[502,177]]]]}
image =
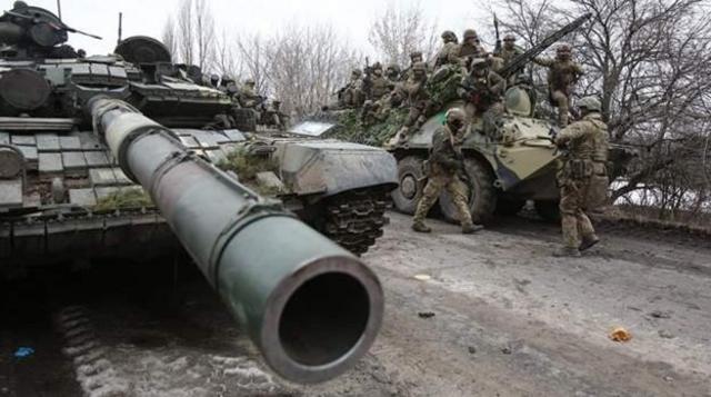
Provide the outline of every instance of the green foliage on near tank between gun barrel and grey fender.
{"type": "Polygon", "coordinates": [[[247,148],[238,148],[227,155],[227,158],[217,163],[223,171],[231,171],[237,175],[241,183],[262,196],[274,196],[282,192],[280,189],[263,186],[258,182],[257,175],[260,172],[274,172],[278,175],[279,165],[269,156],[254,155],[247,148]]]}

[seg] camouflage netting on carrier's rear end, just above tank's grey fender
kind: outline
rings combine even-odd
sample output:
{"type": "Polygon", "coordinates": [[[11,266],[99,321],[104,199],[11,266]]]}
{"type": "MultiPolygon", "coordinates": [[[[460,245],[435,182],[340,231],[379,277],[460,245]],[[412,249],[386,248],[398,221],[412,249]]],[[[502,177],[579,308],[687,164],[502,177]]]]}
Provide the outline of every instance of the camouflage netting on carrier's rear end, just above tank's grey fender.
{"type": "Polygon", "coordinates": [[[338,117],[341,128],[333,138],[380,147],[398,133],[407,117],[408,109],[391,109],[381,122],[363,126],[360,109],[349,110],[338,117]]]}

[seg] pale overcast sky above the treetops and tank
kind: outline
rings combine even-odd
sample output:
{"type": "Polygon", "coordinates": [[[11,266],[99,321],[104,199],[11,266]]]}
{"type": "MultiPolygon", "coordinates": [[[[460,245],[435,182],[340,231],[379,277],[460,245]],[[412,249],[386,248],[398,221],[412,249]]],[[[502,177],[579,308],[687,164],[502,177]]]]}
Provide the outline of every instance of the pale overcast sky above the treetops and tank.
{"type": "MultiPolygon", "coordinates": [[[[12,8],[4,0],[4,9],[12,8]]],[[[30,6],[57,11],[57,0],[26,0],[30,6]]],[[[417,0],[393,0],[395,4],[418,3],[417,0]]],[[[103,37],[102,41],[70,34],[70,44],[89,54],[107,53],[116,46],[118,14],[123,12],[123,38],[134,34],[160,39],[169,14],[180,0],[62,0],[62,19],[70,27],[103,37]]],[[[368,30],[388,0],[210,0],[217,24],[231,32],[269,33],[284,23],[332,23],[353,44],[369,51],[368,30]]],[[[487,16],[482,0],[422,0],[427,16],[440,27],[461,34],[487,16]],[[483,7],[483,8],[482,8],[483,7]]]]}

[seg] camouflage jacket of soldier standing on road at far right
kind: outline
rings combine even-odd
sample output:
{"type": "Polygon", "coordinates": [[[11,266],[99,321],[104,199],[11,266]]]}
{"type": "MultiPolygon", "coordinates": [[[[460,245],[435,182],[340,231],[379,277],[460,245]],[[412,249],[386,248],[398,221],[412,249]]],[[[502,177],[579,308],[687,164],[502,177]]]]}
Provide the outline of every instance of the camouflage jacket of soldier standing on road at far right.
{"type": "Polygon", "coordinates": [[[608,161],[608,126],[602,121],[602,115],[593,112],[560,131],[555,137],[555,145],[568,147],[567,160],[589,160],[604,165],[608,161]]]}

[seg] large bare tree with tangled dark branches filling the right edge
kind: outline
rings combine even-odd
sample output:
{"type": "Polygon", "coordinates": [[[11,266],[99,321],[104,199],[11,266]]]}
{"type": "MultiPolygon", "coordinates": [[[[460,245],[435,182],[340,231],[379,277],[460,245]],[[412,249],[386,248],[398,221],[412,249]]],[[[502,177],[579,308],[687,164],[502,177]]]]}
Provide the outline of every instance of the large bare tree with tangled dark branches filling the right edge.
{"type": "Polygon", "coordinates": [[[661,205],[673,209],[689,205],[689,191],[707,196],[698,167],[711,92],[711,22],[703,0],[570,0],[560,8],[548,0],[500,3],[508,28],[529,43],[563,19],[592,13],[591,22],[568,38],[587,71],[578,95],[601,98],[613,142],[642,149],[613,198],[653,189],[664,196],[661,205]]]}

